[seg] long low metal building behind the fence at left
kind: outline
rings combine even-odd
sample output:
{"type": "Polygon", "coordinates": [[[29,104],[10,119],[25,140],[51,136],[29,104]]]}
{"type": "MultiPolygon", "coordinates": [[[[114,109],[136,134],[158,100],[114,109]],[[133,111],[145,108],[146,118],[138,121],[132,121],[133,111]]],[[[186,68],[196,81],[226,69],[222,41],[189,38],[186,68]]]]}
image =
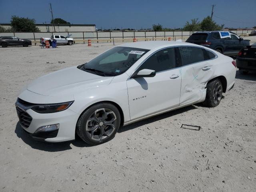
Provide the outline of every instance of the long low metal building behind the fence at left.
{"type": "MultiPolygon", "coordinates": [[[[4,28],[10,28],[10,24],[0,24],[4,28]]],[[[94,32],[95,24],[54,24],[55,32],[94,32]]],[[[36,24],[40,32],[54,32],[52,24],[36,24]]]]}

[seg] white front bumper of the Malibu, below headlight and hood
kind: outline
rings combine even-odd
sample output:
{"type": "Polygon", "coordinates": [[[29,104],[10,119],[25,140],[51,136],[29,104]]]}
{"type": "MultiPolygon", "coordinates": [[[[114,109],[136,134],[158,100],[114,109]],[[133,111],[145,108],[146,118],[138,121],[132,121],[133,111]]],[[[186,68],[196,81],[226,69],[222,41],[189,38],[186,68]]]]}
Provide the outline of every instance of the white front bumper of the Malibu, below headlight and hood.
{"type": "Polygon", "coordinates": [[[32,117],[32,121],[28,127],[25,127],[21,122],[20,125],[32,138],[46,142],[64,142],[75,139],[76,122],[79,115],[72,110],[66,109],[56,113],[40,114],[28,109],[26,113],[32,117]],[[36,132],[42,126],[53,124],[59,124],[58,130],[36,132]]]}

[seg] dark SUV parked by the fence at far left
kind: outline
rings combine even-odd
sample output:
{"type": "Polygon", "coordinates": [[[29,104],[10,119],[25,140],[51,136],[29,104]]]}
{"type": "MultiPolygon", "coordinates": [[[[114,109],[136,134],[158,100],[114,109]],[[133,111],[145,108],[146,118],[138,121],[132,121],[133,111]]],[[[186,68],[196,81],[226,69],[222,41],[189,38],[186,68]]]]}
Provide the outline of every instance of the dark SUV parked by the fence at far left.
{"type": "Polygon", "coordinates": [[[17,46],[17,45],[22,45],[24,47],[27,47],[29,45],[32,45],[32,43],[28,39],[20,39],[18,37],[4,36],[4,37],[0,37],[0,45],[2,47],[17,46]]]}

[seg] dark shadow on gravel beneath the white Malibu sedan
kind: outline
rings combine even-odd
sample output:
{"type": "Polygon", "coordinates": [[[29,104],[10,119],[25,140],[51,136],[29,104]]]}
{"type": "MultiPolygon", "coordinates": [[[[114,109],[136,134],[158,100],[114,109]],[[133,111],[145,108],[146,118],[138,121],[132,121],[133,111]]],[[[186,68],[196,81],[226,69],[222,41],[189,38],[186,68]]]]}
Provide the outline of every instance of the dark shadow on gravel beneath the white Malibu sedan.
{"type": "MultiPolygon", "coordinates": [[[[127,126],[123,126],[118,130],[118,133],[122,133],[125,131],[132,130],[134,128],[137,128],[139,126],[143,126],[145,124],[149,124],[152,122],[156,122],[159,120],[163,120],[165,118],[189,111],[197,109],[196,106],[191,105],[184,108],[180,108],[171,112],[167,112],[158,116],[154,116],[152,118],[148,118],[146,120],[142,120],[127,126]]],[[[186,122],[184,122],[186,123],[186,122]]],[[[78,136],[76,136],[76,140],[68,141],[68,142],[61,142],[61,143],[48,143],[48,142],[42,142],[42,141],[36,141],[31,136],[29,136],[28,133],[26,133],[23,128],[20,126],[20,123],[18,122],[16,124],[15,133],[18,136],[18,138],[21,138],[26,144],[31,146],[33,149],[47,151],[47,152],[58,152],[58,151],[65,151],[72,149],[71,144],[76,147],[93,147],[88,144],[86,144],[82,139],[80,139],[78,136]]]]}

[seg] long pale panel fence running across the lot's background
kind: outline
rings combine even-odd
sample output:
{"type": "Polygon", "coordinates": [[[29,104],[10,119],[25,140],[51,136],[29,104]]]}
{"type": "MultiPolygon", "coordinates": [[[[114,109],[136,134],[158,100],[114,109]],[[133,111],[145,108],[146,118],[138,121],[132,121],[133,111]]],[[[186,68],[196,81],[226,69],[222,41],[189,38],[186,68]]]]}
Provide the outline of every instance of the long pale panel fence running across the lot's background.
{"type": "MultiPolygon", "coordinates": [[[[252,30],[235,30],[232,31],[238,35],[250,33],[252,30]]],[[[15,32],[15,33],[0,33],[0,36],[16,36],[22,39],[29,39],[32,41],[39,41],[41,37],[50,37],[53,34],[67,36],[72,34],[71,38],[74,40],[86,40],[86,39],[110,39],[110,38],[160,38],[160,37],[172,37],[174,39],[181,38],[186,39],[192,33],[196,31],[159,31],[159,32],[144,32],[144,31],[130,31],[130,32],[15,32]]]]}

